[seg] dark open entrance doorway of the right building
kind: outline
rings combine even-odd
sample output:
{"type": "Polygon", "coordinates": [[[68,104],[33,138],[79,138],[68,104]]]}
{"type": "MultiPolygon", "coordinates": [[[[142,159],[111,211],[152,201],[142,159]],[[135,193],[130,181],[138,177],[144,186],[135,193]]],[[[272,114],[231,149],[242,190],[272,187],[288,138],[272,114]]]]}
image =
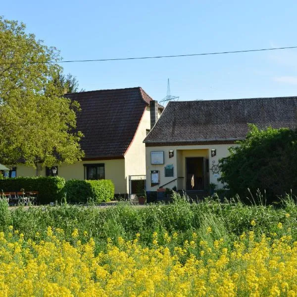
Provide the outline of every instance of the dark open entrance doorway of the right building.
{"type": "Polygon", "coordinates": [[[207,187],[207,162],[203,157],[186,158],[186,190],[202,191],[207,187]]]}

